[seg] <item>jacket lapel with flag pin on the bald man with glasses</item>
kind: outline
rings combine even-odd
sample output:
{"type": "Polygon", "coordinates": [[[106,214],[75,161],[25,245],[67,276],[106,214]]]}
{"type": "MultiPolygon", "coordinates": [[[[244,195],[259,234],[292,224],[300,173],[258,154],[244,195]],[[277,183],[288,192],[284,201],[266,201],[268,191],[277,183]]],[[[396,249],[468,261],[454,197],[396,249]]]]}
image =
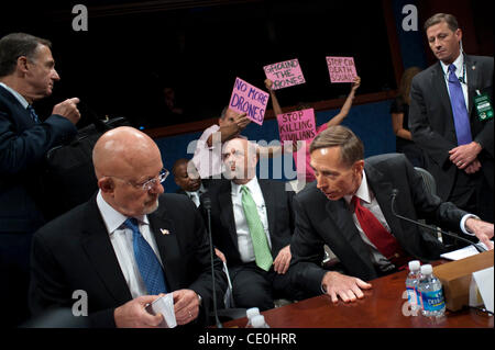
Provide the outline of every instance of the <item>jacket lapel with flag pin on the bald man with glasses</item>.
{"type": "Polygon", "coordinates": [[[174,271],[180,271],[184,267],[177,266],[180,249],[177,241],[177,230],[174,222],[167,216],[167,212],[162,208],[157,212],[147,215],[150,221],[150,229],[155,237],[156,246],[158,247],[160,258],[162,259],[163,269],[165,273],[165,281],[168,292],[175,291],[179,287],[180,281],[176,279],[174,271]]]}

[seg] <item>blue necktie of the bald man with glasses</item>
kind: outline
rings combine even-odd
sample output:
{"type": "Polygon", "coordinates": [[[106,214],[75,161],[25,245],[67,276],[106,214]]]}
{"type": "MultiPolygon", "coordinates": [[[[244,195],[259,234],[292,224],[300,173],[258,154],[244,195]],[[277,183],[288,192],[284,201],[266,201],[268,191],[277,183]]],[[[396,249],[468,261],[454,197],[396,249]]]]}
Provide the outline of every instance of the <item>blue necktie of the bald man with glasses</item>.
{"type": "Polygon", "coordinates": [[[147,294],[158,295],[160,293],[167,293],[162,266],[152,247],[141,235],[138,221],[131,217],[124,222],[124,225],[132,230],[134,257],[141,278],[146,285],[147,294]]]}

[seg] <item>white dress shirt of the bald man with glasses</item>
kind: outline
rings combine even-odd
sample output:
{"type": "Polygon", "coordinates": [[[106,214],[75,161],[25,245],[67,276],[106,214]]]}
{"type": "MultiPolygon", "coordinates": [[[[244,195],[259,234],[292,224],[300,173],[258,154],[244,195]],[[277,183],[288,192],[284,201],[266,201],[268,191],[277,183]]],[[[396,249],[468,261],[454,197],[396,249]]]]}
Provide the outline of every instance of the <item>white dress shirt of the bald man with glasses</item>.
{"type": "MultiPolygon", "coordinates": [[[[132,230],[123,225],[128,217],[116,211],[110,204],[108,204],[102,195],[101,191],[97,195],[97,205],[103,217],[105,226],[109,234],[110,241],[116,252],[117,259],[122,274],[128,283],[129,290],[133,298],[146,295],[146,286],[141,278],[138,263],[134,258],[134,248],[132,245],[132,230]]],[[[135,217],[139,222],[140,233],[152,247],[160,263],[163,267],[162,259],[160,258],[158,248],[156,246],[155,238],[150,230],[150,222],[146,215],[135,217]]]]}

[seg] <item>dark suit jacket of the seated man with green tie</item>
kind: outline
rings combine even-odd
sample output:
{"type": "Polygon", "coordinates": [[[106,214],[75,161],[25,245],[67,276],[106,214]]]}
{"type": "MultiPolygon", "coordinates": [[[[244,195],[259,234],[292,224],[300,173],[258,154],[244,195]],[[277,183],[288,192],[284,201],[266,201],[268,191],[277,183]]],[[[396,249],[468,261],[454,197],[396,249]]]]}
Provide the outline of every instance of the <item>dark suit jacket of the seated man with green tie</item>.
{"type": "MultiPolygon", "coordinates": [[[[258,179],[268,216],[272,257],[275,260],[282,248],[290,244],[294,233],[294,192],[286,191],[285,182],[258,179]]],[[[219,180],[207,194],[211,200],[211,233],[215,246],[226,256],[229,267],[242,264],[233,213],[231,181],[219,180]]],[[[201,207],[206,217],[206,211],[201,207]]]]}

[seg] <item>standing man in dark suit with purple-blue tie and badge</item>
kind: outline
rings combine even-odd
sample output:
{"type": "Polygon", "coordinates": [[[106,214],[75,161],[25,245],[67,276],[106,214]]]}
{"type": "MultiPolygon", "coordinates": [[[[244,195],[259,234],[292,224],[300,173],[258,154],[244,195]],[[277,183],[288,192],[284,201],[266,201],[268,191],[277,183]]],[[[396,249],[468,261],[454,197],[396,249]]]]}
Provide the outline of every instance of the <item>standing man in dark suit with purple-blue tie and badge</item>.
{"type": "Polygon", "coordinates": [[[474,102],[477,92],[493,101],[493,57],[463,53],[451,14],[435,14],[425,31],[439,61],[413,80],[413,139],[427,155],[439,196],[493,223],[493,117],[482,118],[474,102]]]}

